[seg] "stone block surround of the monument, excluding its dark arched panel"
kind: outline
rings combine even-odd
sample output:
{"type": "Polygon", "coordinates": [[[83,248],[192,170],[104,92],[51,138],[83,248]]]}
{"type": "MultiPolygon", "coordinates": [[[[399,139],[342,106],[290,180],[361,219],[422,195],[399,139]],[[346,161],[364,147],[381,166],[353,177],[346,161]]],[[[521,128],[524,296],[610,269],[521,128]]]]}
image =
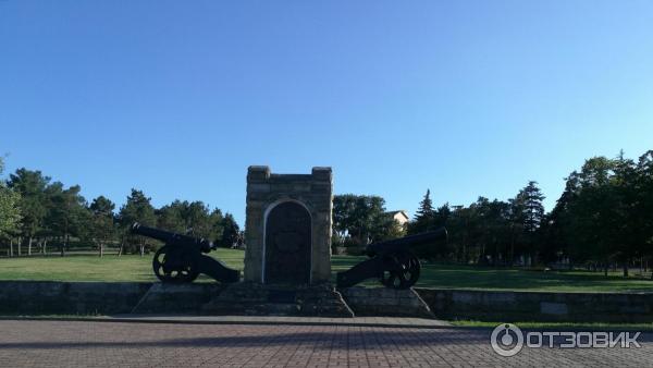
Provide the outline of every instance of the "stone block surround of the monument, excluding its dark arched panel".
{"type": "Polygon", "coordinates": [[[310,174],[273,174],[269,167],[249,167],[245,223],[244,279],[263,283],[266,216],[284,201],[303,205],[311,216],[311,283],[331,278],[333,184],[331,168],[310,174]]]}

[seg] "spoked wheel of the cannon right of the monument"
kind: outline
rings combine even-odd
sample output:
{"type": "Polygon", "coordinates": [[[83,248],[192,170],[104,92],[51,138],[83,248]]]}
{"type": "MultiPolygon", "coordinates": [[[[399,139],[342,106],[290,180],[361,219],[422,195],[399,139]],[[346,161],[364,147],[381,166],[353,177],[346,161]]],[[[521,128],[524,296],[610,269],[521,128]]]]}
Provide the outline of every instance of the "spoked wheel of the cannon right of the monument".
{"type": "Polygon", "coordinates": [[[383,265],[384,270],[380,281],[385,287],[408,289],[419,279],[421,269],[419,259],[409,252],[385,255],[383,265]]]}

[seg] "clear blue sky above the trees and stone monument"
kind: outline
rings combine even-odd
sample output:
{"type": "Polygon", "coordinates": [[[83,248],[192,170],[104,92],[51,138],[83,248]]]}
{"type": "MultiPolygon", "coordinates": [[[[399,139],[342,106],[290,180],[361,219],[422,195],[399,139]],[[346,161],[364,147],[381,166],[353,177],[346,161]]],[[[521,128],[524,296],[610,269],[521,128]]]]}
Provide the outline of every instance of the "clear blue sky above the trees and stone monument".
{"type": "Polygon", "coordinates": [[[653,148],[653,1],[0,1],[0,152],[243,223],[250,164],[412,214],[653,148]]]}

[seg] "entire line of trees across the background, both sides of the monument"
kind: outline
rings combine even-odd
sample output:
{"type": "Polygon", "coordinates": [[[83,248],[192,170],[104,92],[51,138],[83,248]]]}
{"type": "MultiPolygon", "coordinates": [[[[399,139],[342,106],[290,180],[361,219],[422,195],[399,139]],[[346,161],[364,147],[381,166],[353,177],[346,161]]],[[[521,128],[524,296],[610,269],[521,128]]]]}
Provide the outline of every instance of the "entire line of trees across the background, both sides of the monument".
{"type": "MultiPolygon", "coordinates": [[[[0,173],[2,160],[0,160],[0,173]]],[[[71,238],[120,253],[144,253],[158,246],[132,236],[133,222],[212,240],[222,246],[243,244],[230,213],[201,201],[175,200],[155,208],[143,192],[132,189],[118,212],[99,196],[90,203],[78,185],[65,187],[39,171],[19,169],[0,181],[0,244],[10,255],[62,254],[71,238]],[[25,252],[26,250],[26,252],[25,252]]],[[[358,247],[383,240],[446,226],[446,243],[414,249],[419,257],[494,266],[587,266],[624,273],[653,258],[653,151],[638,160],[594,157],[566,179],[555,207],[544,212],[544,195],[531,181],[508,200],[479,197],[469,206],[434,207],[427,191],[415,218],[399,225],[379,196],[336,195],[333,200],[333,246],[358,247]]]]}

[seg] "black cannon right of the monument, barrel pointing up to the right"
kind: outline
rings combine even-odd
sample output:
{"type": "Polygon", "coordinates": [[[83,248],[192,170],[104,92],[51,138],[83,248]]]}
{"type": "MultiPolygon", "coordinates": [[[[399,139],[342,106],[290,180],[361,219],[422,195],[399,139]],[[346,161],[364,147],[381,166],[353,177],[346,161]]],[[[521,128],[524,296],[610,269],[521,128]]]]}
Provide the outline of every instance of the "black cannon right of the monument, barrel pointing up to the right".
{"type": "Polygon", "coordinates": [[[367,279],[377,278],[385,287],[408,289],[415,285],[421,269],[419,259],[410,252],[409,247],[443,241],[446,240],[446,229],[440,228],[426,233],[370,244],[366,249],[370,259],[338,272],[337,286],[349,287],[367,279]]]}

